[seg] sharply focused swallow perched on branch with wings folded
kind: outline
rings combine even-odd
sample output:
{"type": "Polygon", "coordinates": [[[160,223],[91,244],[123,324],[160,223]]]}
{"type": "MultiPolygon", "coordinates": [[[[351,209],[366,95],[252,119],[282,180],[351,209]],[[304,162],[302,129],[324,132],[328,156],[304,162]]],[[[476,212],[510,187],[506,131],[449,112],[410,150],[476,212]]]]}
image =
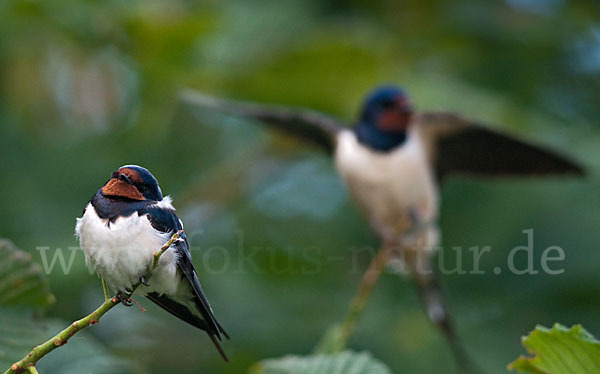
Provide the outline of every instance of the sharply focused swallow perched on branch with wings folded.
{"type": "Polygon", "coordinates": [[[227,361],[219,341],[221,334],[229,336],[200,286],[185,233],[160,257],[152,277],[146,278],[154,252],[179,230],[183,230],[183,223],[175,215],[171,198],[163,198],[156,178],[136,165],[112,173],[87,204],[75,228],[86,261],[125,305],[131,305],[128,292],[132,286],[143,283],[139,290],[146,297],[206,331],[227,361]]]}

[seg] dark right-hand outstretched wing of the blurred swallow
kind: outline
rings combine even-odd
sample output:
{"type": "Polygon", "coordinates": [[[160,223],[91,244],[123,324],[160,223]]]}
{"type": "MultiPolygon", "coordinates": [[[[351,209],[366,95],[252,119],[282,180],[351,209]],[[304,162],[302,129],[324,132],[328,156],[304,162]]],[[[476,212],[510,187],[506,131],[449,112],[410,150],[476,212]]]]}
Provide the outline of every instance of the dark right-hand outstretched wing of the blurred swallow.
{"type": "Polygon", "coordinates": [[[416,117],[440,180],[451,174],[486,176],[584,175],[581,166],[552,150],[527,143],[448,112],[416,117]]]}

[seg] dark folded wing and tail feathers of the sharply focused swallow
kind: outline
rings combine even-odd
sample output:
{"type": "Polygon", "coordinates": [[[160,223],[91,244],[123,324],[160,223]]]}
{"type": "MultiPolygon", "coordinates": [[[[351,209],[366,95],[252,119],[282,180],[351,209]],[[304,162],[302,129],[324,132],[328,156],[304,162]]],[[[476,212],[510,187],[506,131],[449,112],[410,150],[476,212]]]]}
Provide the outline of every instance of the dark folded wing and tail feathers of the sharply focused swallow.
{"type": "MultiPolygon", "coordinates": [[[[139,214],[147,214],[152,227],[161,232],[172,234],[183,229],[181,221],[179,221],[175,215],[175,212],[171,209],[149,207],[147,209],[140,210],[139,214]]],[[[223,359],[227,361],[227,356],[221,348],[219,341],[221,340],[221,334],[225,335],[227,338],[229,338],[229,336],[217,322],[212,308],[206,299],[204,290],[200,285],[196,270],[192,264],[189,244],[185,233],[181,234],[181,240],[175,242],[173,244],[173,248],[178,254],[177,265],[179,266],[181,274],[192,290],[196,312],[199,312],[201,317],[198,316],[198,313],[193,313],[193,311],[190,310],[189,306],[185,303],[179,302],[178,300],[175,300],[167,295],[150,293],[146,296],[167,312],[173,314],[192,326],[206,331],[223,359]]]]}

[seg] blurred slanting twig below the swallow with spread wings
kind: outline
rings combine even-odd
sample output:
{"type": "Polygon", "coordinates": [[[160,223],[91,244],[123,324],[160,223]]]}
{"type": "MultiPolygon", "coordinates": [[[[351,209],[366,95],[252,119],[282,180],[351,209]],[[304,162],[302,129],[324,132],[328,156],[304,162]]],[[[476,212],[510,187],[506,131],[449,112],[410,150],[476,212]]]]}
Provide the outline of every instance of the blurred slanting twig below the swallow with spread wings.
{"type": "Polygon", "coordinates": [[[348,339],[354,332],[356,323],[358,322],[358,319],[360,318],[360,315],[362,314],[365,305],[367,304],[367,300],[369,299],[369,296],[373,291],[373,287],[377,283],[377,280],[379,280],[381,271],[383,270],[387,262],[388,253],[388,247],[384,245],[381,249],[379,249],[377,255],[375,256],[373,261],[371,261],[369,268],[363,274],[362,280],[358,287],[358,291],[356,292],[356,295],[350,302],[350,309],[341,326],[340,338],[344,344],[346,341],[348,341],[348,339]]]}

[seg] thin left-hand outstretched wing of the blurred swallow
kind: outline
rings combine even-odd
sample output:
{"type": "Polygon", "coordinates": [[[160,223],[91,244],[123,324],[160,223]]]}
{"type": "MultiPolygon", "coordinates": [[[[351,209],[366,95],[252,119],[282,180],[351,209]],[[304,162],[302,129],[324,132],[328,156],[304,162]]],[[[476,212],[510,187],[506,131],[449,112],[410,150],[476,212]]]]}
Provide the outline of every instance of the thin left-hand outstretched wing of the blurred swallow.
{"type": "Polygon", "coordinates": [[[310,109],[217,99],[191,90],[183,91],[181,97],[192,105],[260,121],[316,144],[330,154],[335,148],[337,133],[346,127],[344,123],[310,109]]]}

